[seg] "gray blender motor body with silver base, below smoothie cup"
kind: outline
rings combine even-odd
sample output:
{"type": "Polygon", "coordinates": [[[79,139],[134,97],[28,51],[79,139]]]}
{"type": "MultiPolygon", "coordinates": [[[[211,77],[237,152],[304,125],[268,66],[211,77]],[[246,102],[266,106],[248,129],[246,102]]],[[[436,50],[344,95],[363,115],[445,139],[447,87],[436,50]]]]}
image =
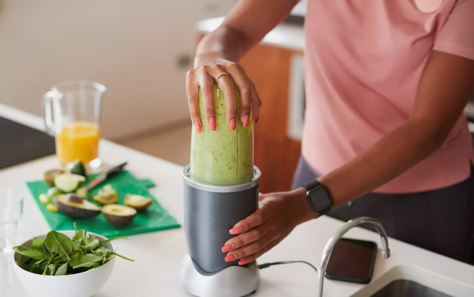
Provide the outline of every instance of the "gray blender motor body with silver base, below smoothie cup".
{"type": "Polygon", "coordinates": [[[225,262],[222,246],[236,235],[229,229],[250,216],[258,207],[260,171],[237,185],[213,185],[194,180],[183,171],[184,228],[189,255],[180,270],[181,286],[199,297],[241,297],[258,287],[260,277],[255,262],[238,266],[225,262]]]}

